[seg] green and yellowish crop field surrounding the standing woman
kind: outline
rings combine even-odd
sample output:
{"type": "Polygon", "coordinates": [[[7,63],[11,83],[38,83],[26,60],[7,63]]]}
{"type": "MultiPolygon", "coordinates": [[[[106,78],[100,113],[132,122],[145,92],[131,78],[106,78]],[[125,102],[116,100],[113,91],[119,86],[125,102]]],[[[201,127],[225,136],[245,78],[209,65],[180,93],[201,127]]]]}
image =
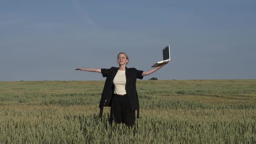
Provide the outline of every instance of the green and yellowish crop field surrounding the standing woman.
{"type": "Polygon", "coordinates": [[[256,80],[138,81],[132,129],[98,118],[103,86],[0,82],[0,143],[256,143],[256,80]]]}

